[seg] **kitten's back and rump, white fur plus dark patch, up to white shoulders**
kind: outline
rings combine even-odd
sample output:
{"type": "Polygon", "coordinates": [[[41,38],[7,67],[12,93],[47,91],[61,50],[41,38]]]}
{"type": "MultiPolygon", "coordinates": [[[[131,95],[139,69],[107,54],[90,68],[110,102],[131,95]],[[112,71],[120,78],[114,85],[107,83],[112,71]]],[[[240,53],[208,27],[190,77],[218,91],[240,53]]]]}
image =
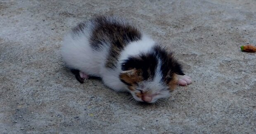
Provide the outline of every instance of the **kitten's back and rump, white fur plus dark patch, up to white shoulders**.
{"type": "Polygon", "coordinates": [[[97,16],[79,23],[64,38],[62,55],[71,69],[100,76],[101,67],[116,68],[121,51],[142,38],[132,23],[114,16],[97,16]]]}

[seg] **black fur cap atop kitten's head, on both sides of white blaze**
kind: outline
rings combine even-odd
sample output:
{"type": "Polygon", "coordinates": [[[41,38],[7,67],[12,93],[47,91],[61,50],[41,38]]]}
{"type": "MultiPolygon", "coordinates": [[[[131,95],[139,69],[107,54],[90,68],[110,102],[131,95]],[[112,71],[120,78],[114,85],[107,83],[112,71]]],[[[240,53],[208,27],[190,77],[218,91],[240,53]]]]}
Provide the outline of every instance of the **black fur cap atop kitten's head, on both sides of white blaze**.
{"type": "Polygon", "coordinates": [[[173,78],[173,73],[183,74],[181,65],[173,58],[172,53],[168,53],[163,46],[157,44],[149,53],[142,53],[137,57],[129,57],[122,64],[122,70],[139,69],[142,71],[144,80],[154,79],[156,67],[161,64],[162,81],[166,84],[173,78]],[[161,61],[161,62],[159,62],[161,61]]]}

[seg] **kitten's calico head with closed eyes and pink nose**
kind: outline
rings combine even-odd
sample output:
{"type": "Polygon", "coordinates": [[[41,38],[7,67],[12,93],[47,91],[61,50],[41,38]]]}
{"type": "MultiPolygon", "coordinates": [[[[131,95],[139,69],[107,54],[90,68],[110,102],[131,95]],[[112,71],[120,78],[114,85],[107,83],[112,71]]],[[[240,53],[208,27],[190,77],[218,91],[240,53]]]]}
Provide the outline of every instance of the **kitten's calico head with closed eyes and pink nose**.
{"type": "Polygon", "coordinates": [[[128,86],[135,100],[154,103],[170,95],[184,75],[180,64],[160,46],[148,53],[129,57],[122,63],[120,80],[128,86]]]}

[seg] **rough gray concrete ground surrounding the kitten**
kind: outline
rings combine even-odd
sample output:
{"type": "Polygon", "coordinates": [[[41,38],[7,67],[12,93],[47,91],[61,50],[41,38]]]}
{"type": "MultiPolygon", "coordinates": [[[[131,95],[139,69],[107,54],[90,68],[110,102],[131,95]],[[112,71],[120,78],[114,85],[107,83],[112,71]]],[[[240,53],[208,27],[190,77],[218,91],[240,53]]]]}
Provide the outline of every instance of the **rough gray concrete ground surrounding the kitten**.
{"type": "Polygon", "coordinates": [[[256,133],[255,0],[1,0],[0,133],[256,133]],[[130,102],[64,67],[64,34],[116,14],[170,45],[193,83],[130,102]]]}

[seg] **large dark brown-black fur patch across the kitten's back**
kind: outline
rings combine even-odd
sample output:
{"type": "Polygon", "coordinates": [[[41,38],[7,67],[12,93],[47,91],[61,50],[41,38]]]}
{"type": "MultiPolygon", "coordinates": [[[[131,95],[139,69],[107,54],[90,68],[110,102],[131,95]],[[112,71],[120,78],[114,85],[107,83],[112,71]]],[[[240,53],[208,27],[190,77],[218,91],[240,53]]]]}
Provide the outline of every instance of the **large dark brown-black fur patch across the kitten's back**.
{"type": "Polygon", "coordinates": [[[92,19],[95,28],[92,30],[90,44],[93,49],[100,51],[104,45],[109,45],[106,67],[116,67],[116,62],[124,47],[141,39],[142,34],[132,24],[121,18],[98,16],[92,19]]]}

